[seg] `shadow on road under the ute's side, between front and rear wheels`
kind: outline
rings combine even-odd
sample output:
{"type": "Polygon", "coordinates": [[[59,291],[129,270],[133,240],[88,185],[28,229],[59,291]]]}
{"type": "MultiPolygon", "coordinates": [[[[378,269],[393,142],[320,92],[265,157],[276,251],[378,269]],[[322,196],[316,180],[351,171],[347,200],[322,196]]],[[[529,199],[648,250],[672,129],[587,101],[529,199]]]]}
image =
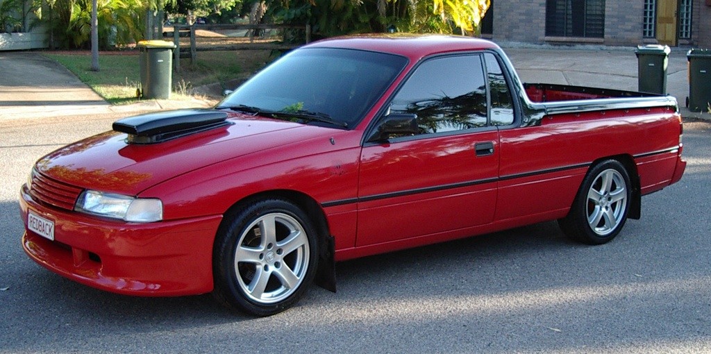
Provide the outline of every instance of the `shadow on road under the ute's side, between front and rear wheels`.
{"type": "MultiPolygon", "coordinates": [[[[341,262],[337,267],[338,285],[342,291],[360,291],[361,281],[373,285],[374,281],[382,280],[391,286],[408,286],[407,284],[422,284],[424,279],[421,274],[429,272],[437,284],[430,288],[428,295],[437,296],[443,286],[466,291],[465,282],[471,284],[471,281],[493,280],[476,279],[477,273],[491,277],[493,272],[504,279],[513,277],[513,274],[500,274],[496,269],[513,267],[524,273],[540,272],[541,267],[533,269],[532,264],[542,261],[545,262],[545,267],[555,267],[555,259],[565,257],[566,252],[575,252],[575,249],[587,247],[568,240],[556,222],[542,222],[503,232],[341,262]],[[544,260],[546,257],[549,259],[544,260]]],[[[477,285],[472,289],[481,291],[483,287],[477,285]]]]}

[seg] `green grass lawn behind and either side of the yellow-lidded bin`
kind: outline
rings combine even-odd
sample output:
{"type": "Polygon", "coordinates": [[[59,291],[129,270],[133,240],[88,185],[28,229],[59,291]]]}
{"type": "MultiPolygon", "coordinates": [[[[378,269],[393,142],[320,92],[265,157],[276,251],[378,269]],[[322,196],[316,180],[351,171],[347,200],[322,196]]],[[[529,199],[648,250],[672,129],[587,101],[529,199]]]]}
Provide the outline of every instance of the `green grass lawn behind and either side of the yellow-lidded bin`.
{"type": "MultiPolygon", "coordinates": [[[[273,58],[267,51],[198,53],[196,63],[181,59],[181,75],[173,74],[173,92],[176,100],[183,100],[186,89],[215,82],[224,83],[235,78],[246,78],[260,70],[273,58]],[[245,53],[246,52],[246,53],[245,53]]],[[[91,55],[87,52],[45,53],[46,57],[64,65],[101,97],[111,104],[137,102],[136,90],[140,87],[139,55],[136,53],[99,54],[100,71],[90,70],[91,55]]]]}

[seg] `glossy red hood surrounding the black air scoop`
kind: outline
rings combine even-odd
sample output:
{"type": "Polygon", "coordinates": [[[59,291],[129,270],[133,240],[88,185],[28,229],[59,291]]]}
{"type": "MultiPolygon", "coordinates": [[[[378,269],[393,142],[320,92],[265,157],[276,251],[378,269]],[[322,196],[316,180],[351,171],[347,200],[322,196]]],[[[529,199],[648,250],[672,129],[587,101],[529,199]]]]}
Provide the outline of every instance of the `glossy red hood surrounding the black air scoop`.
{"type": "Polygon", "coordinates": [[[228,122],[226,127],[158,144],[128,144],[127,134],[105,132],[54,151],[40,159],[36,169],[72,186],[138,195],[169,178],[213,163],[334,132],[250,116],[231,117],[228,122]]]}

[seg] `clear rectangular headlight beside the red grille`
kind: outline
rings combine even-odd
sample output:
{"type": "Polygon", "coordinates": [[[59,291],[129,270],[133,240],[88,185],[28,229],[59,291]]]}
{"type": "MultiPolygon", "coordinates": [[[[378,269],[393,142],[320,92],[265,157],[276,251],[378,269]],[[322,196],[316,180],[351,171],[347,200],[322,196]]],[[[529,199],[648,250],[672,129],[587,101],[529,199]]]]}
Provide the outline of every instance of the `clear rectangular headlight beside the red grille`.
{"type": "Polygon", "coordinates": [[[84,191],[77,198],[74,210],[129,222],[163,220],[163,203],[155,198],[134,198],[128,195],[84,191]]]}

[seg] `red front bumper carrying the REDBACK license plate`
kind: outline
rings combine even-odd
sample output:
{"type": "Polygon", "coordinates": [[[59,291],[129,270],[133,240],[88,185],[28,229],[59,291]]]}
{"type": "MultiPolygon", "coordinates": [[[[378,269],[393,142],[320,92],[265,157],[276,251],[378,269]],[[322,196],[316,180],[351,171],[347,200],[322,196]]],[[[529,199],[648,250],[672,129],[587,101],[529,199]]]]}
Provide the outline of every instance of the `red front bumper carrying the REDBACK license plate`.
{"type": "Polygon", "coordinates": [[[118,294],[182,296],[213,289],[212,254],[222,215],[118,222],[47,208],[21,190],[28,256],[52,272],[118,294]],[[27,228],[28,211],[55,223],[51,241],[27,228]]]}

